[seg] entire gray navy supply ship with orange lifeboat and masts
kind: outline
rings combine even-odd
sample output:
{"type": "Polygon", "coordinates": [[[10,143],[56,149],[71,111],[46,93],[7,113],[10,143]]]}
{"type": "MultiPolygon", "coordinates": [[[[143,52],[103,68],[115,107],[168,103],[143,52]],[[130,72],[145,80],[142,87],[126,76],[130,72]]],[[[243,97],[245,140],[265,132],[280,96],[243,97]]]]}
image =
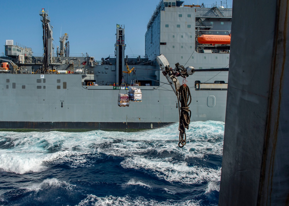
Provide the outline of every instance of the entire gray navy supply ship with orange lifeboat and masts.
{"type": "MultiPolygon", "coordinates": [[[[175,63],[199,70],[229,65],[232,8],[226,4],[161,0],[147,24],[145,55],[125,55],[125,26],[116,25],[115,54],[101,61],[88,54],[70,57],[66,33],[55,53],[48,11],[42,9],[39,14],[42,57],[34,57],[32,48],[6,40],[5,57],[0,59],[0,128],[150,129],[170,125],[179,121],[177,96],[157,56],[163,54],[172,69],[175,63]],[[130,87],[141,90],[142,101],[118,106],[118,95],[130,87]]],[[[191,121],[225,121],[227,71],[178,78],[191,91],[191,121]]]]}

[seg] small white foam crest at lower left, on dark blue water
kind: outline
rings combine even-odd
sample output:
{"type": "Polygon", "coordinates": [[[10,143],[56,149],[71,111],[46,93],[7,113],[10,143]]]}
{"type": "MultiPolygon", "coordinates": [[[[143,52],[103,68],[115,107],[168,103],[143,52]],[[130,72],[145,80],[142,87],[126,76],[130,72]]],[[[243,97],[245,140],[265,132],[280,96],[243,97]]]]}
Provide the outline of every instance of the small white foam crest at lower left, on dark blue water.
{"type": "Polygon", "coordinates": [[[52,178],[52,179],[45,179],[41,183],[34,183],[31,186],[25,187],[23,189],[25,189],[27,192],[30,191],[39,192],[40,190],[59,187],[72,191],[76,187],[76,185],[72,185],[65,181],[59,181],[58,179],[52,178]]]}

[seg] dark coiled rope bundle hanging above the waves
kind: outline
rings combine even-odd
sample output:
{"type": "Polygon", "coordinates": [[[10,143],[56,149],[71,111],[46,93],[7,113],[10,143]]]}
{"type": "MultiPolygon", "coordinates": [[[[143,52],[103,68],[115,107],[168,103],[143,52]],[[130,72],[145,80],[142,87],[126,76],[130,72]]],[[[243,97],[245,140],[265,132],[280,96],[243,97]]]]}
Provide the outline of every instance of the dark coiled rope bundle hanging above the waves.
{"type": "MultiPolygon", "coordinates": [[[[177,89],[176,89],[177,91],[177,89]]],[[[179,147],[186,145],[186,128],[189,129],[191,122],[191,111],[189,105],[192,102],[191,92],[186,84],[181,85],[177,92],[178,104],[179,104],[179,147]],[[190,102],[188,103],[188,101],[190,102]],[[180,107],[181,102],[181,107],[180,107]]]]}

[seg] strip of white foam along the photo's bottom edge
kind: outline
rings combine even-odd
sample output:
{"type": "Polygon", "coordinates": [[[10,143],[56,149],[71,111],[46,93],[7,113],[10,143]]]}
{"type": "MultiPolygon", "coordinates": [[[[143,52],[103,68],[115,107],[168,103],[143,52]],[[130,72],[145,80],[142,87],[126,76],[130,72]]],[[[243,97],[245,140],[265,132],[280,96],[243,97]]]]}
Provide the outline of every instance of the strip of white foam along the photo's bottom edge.
{"type": "Polygon", "coordinates": [[[94,205],[94,206],[113,206],[113,205],[140,205],[140,206],[181,206],[181,205],[188,205],[188,206],[199,206],[199,201],[173,201],[167,200],[163,202],[158,202],[152,199],[145,199],[143,197],[131,198],[129,196],[124,197],[114,197],[114,196],[107,196],[107,197],[97,197],[95,195],[89,194],[87,197],[82,200],[77,206],[87,206],[87,205],[94,205]]]}

